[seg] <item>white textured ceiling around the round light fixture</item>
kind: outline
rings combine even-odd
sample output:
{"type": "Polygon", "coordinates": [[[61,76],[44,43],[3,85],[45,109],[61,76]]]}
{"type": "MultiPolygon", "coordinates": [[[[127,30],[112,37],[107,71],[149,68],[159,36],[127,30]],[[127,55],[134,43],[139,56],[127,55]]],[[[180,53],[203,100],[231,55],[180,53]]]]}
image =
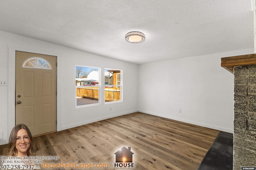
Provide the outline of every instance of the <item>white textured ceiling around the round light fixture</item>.
{"type": "Polygon", "coordinates": [[[251,0],[0,0],[2,31],[137,64],[253,48],[253,27],[251,0]]]}

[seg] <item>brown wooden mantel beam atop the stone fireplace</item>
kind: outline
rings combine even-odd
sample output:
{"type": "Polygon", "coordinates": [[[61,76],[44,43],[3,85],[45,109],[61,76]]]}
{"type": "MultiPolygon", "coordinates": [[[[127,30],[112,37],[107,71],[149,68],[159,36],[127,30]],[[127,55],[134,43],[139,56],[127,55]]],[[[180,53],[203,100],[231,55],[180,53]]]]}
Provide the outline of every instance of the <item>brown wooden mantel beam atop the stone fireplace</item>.
{"type": "Polygon", "coordinates": [[[256,64],[256,54],[221,58],[221,66],[234,74],[234,66],[256,64]]]}

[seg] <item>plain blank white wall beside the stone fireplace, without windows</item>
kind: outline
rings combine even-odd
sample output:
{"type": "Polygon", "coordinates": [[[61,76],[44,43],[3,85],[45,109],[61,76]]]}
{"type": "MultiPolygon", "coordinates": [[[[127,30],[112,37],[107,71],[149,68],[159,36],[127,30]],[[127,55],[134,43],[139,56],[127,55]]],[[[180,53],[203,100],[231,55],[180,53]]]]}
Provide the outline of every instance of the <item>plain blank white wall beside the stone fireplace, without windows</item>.
{"type": "Polygon", "coordinates": [[[220,66],[221,58],[252,53],[244,49],[142,64],[138,110],[233,133],[234,77],[220,66]]]}

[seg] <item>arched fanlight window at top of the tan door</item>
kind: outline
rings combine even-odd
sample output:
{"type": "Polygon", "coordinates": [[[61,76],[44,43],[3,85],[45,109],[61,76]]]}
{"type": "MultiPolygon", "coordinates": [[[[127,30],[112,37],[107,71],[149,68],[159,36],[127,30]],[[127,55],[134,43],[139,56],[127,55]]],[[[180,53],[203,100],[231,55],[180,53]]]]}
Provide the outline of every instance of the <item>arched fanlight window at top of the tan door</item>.
{"type": "Polygon", "coordinates": [[[42,59],[40,57],[31,57],[24,61],[22,64],[23,68],[39,68],[39,69],[48,69],[52,70],[51,64],[46,61],[45,59],[42,59]]]}

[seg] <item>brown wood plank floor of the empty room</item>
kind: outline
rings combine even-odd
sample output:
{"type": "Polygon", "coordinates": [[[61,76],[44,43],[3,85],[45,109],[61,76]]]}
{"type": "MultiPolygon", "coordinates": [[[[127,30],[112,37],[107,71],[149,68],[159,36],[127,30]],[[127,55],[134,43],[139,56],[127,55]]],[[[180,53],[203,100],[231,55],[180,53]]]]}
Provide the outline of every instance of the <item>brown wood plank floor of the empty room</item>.
{"type": "MultiPolygon", "coordinates": [[[[34,141],[36,154],[58,156],[55,163],[108,164],[108,168],[98,169],[114,169],[115,153],[131,147],[134,169],[196,170],[218,133],[136,112],[42,135],[34,141]]],[[[0,146],[0,155],[8,155],[7,147],[0,146]]]]}

